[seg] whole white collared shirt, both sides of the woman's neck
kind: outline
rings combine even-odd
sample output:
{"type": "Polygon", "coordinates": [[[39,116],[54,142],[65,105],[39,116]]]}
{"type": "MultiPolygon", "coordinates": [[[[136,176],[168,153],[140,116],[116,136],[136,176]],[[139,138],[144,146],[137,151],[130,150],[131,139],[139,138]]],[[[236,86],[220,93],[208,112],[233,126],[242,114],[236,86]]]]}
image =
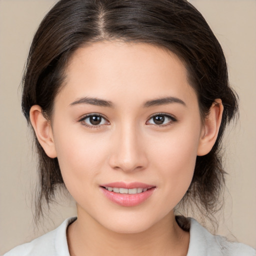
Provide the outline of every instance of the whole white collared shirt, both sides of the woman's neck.
{"type": "MultiPolygon", "coordinates": [[[[3,256],[70,256],[66,240],[66,228],[76,217],[67,218],[56,229],[18,245],[3,256]]],[[[227,241],[220,235],[212,235],[195,219],[190,219],[190,240],[187,256],[256,256],[256,250],[248,245],[227,241]]]]}

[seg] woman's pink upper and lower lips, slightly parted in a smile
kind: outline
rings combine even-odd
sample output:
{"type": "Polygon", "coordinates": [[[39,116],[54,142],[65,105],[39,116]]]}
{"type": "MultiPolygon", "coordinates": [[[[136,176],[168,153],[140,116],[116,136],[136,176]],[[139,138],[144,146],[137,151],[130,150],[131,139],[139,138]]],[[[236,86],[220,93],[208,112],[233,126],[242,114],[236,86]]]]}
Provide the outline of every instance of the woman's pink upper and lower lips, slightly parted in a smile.
{"type": "Polygon", "coordinates": [[[113,182],[108,184],[100,185],[100,189],[103,194],[112,202],[119,204],[121,206],[136,206],[143,201],[145,201],[155,190],[155,186],[140,183],[140,182],[132,182],[132,183],[124,183],[124,182],[113,182]],[[123,187],[123,188],[147,188],[146,191],[136,194],[122,194],[115,193],[113,191],[108,191],[104,187],[123,187]]]}

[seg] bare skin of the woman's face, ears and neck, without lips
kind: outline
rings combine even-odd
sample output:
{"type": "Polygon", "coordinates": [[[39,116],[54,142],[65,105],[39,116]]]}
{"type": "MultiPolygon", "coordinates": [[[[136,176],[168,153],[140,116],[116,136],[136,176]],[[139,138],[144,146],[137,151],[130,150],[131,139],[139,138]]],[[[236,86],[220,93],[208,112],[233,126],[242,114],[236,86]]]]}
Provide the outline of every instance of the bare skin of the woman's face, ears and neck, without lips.
{"type": "Polygon", "coordinates": [[[58,158],[77,204],[77,220],[67,229],[71,256],[186,255],[189,232],[177,225],[173,209],[189,187],[196,155],[213,146],[223,110],[216,99],[202,124],[186,77],[182,62],[167,50],[98,42],[74,52],[51,120],[38,105],[31,107],[37,138],[49,157],[58,158]],[[84,102],[84,97],[111,106],[84,102]],[[177,102],[145,106],[166,97],[177,102]],[[99,125],[85,119],[91,113],[104,117],[99,125]],[[152,118],[159,115],[163,124],[152,118]],[[139,205],[121,206],[99,187],[115,181],[155,189],[139,205]]]}

